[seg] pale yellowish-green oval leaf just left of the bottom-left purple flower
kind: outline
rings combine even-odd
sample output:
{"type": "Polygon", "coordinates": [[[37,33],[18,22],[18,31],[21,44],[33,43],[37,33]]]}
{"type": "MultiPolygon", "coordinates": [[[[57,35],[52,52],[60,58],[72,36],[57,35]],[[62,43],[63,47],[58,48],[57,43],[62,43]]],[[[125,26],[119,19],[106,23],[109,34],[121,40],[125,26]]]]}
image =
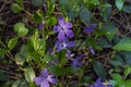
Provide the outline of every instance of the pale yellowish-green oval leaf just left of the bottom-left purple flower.
{"type": "Polygon", "coordinates": [[[29,67],[25,69],[24,76],[28,83],[33,83],[34,78],[35,78],[35,72],[34,72],[33,67],[29,66],[29,67]]]}

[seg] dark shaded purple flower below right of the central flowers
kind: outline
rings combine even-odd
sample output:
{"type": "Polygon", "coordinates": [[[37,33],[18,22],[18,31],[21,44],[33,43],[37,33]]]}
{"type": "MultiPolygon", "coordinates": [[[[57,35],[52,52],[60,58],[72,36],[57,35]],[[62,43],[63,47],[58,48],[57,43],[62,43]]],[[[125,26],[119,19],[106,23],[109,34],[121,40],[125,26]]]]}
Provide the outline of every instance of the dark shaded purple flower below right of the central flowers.
{"type": "Polygon", "coordinates": [[[80,67],[82,66],[82,60],[83,60],[84,54],[78,55],[75,59],[71,59],[72,61],[72,66],[80,67]]]}

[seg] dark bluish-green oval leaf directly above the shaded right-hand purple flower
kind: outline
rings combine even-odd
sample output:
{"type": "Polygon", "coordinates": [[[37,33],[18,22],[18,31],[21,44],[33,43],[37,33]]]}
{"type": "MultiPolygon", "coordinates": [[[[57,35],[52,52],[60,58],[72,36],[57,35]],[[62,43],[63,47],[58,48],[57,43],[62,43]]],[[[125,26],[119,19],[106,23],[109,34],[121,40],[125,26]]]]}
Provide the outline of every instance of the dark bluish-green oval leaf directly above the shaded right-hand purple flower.
{"type": "Polygon", "coordinates": [[[86,7],[84,7],[84,5],[82,5],[81,7],[81,9],[80,9],[80,11],[79,11],[79,14],[80,14],[80,17],[81,17],[81,20],[85,23],[85,24],[87,24],[87,23],[90,23],[90,11],[87,10],[87,8],[86,7]]]}

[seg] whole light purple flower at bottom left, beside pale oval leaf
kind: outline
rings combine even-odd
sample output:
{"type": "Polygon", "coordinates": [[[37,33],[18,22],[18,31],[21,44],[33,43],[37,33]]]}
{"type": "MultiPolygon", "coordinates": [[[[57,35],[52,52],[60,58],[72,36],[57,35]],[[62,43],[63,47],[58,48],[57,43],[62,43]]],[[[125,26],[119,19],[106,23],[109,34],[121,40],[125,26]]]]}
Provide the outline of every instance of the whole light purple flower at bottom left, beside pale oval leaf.
{"type": "Polygon", "coordinates": [[[41,71],[40,76],[35,77],[34,80],[35,80],[35,84],[37,86],[40,85],[40,87],[50,87],[50,84],[56,84],[58,82],[58,79],[55,78],[55,75],[48,74],[48,71],[46,67],[41,71]]]}

